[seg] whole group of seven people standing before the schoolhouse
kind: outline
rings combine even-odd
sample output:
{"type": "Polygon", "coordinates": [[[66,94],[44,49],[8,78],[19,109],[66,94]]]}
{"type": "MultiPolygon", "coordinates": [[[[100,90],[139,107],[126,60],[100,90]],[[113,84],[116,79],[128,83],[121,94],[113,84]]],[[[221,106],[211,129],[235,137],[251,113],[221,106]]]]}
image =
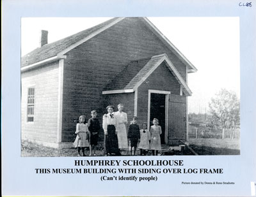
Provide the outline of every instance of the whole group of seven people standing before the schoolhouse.
{"type": "MultiPolygon", "coordinates": [[[[124,105],[120,103],[117,112],[114,112],[113,105],[107,106],[106,109],[108,113],[105,113],[102,118],[106,156],[120,156],[120,150],[126,150],[129,147],[131,147],[130,155],[135,155],[138,143],[141,155],[147,155],[148,150],[152,150],[153,155],[157,155],[158,150],[161,150],[160,135],[162,133],[157,119],[153,120],[153,126],[148,131],[146,123],[143,123],[140,129],[137,124],[138,118],[132,117],[127,135],[126,124],[128,120],[127,113],[123,112],[124,105]]],[[[81,115],[76,126],[77,136],[74,147],[77,147],[78,156],[85,156],[84,150],[88,146],[90,146],[89,156],[96,156],[95,148],[97,146],[100,123],[95,110],[91,112],[91,115],[92,118],[88,120],[88,124],[85,116],[81,115]]]]}

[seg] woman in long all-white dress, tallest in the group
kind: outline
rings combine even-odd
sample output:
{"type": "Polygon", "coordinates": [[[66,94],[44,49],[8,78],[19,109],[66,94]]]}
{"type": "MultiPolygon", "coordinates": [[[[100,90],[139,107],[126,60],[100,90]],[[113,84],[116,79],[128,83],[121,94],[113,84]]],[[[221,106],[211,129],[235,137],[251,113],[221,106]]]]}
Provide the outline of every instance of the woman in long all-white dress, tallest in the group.
{"type": "Polygon", "coordinates": [[[118,148],[119,149],[126,149],[128,148],[128,141],[127,141],[127,133],[126,133],[126,126],[127,124],[127,113],[123,112],[124,105],[122,103],[118,104],[118,112],[115,112],[115,117],[117,120],[117,138],[118,138],[118,148]]]}

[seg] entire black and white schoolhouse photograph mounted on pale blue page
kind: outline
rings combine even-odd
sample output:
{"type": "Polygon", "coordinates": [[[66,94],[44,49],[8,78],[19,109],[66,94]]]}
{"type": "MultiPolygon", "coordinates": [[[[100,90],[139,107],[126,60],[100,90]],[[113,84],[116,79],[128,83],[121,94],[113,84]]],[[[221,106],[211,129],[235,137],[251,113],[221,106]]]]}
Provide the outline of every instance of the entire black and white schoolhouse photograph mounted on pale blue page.
{"type": "Polygon", "coordinates": [[[240,154],[239,18],[21,18],[21,156],[240,154]]]}

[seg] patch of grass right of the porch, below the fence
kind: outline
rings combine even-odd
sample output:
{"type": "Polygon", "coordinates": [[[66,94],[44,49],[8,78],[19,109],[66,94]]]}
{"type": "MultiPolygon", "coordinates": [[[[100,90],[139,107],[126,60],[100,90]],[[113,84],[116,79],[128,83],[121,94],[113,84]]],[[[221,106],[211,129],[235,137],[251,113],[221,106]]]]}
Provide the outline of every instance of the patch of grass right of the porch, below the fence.
{"type": "Polygon", "coordinates": [[[239,155],[240,138],[189,138],[189,147],[199,155],[239,155]]]}

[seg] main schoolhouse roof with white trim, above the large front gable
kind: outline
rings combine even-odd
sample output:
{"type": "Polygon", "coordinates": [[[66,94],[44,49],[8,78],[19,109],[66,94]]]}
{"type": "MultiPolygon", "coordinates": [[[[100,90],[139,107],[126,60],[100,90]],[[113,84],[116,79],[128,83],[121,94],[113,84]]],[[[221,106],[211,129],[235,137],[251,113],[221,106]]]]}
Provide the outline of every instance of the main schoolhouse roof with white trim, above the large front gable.
{"type": "MultiPolygon", "coordinates": [[[[68,36],[67,38],[49,43],[43,47],[36,48],[32,52],[29,52],[29,54],[26,54],[22,57],[21,67],[24,67],[22,70],[45,64],[47,62],[56,61],[57,59],[65,58],[64,54],[69,50],[72,50],[72,48],[75,48],[78,45],[81,45],[81,43],[90,40],[93,38],[93,36],[96,36],[97,34],[117,24],[123,19],[124,18],[111,18],[102,24],[81,31],[72,36],[68,36]]],[[[186,57],[184,57],[184,55],[179,52],[179,50],[154,26],[154,24],[152,24],[146,17],[140,19],[154,34],[156,34],[156,36],[161,41],[163,41],[163,43],[166,44],[170,50],[172,50],[177,55],[177,57],[179,57],[182,62],[184,62],[184,64],[186,64],[186,66],[188,66],[188,72],[197,71],[195,66],[193,66],[193,64],[191,64],[191,62],[189,62],[188,59],[186,59],[186,57]]]]}

